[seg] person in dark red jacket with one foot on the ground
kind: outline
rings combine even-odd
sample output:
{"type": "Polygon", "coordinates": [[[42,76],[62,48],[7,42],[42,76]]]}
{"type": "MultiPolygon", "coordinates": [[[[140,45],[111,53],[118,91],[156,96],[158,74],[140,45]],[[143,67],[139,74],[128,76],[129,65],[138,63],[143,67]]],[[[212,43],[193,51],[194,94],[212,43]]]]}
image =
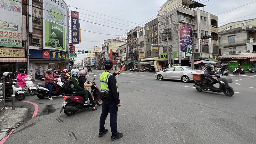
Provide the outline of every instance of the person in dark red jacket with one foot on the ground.
{"type": "Polygon", "coordinates": [[[49,93],[48,93],[49,100],[53,100],[52,88],[54,89],[54,91],[56,91],[56,86],[52,84],[52,82],[56,80],[53,78],[52,72],[53,72],[52,69],[48,69],[45,71],[45,74],[44,74],[44,78],[45,78],[44,85],[49,89],[49,93]]]}

